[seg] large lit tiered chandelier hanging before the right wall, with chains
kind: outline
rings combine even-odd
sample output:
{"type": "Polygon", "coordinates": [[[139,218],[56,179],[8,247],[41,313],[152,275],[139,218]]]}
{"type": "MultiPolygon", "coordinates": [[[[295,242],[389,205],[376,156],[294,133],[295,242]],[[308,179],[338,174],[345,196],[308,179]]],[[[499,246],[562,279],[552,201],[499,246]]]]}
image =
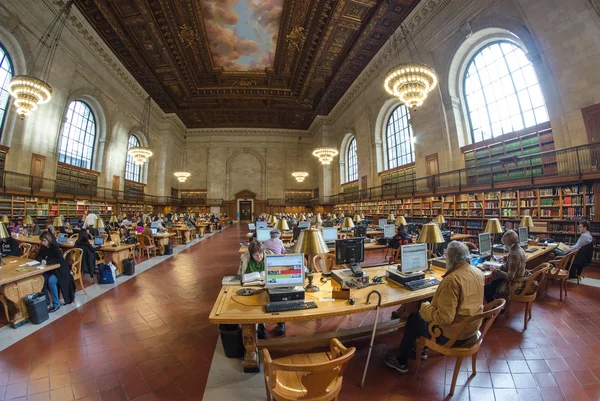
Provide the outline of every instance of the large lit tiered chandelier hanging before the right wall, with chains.
{"type": "MultiPolygon", "coordinates": [[[[406,42],[406,47],[410,59],[413,60],[413,53],[410,48],[411,42],[417,53],[417,58],[421,61],[419,49],[415,45],[408,30],[400,25],[402,36],[406,42]]],[[[438,84],[438,77],[433,68],[421,62],[400,62],[400,49],[398,49],[398,38],[393,34],[393,51],[398,56],[399,65],[388,73],[385,77],[383,87],[392,96],[397,97],[407,107],[416,110],[423,105],[429,92],[438,84]]]]}

